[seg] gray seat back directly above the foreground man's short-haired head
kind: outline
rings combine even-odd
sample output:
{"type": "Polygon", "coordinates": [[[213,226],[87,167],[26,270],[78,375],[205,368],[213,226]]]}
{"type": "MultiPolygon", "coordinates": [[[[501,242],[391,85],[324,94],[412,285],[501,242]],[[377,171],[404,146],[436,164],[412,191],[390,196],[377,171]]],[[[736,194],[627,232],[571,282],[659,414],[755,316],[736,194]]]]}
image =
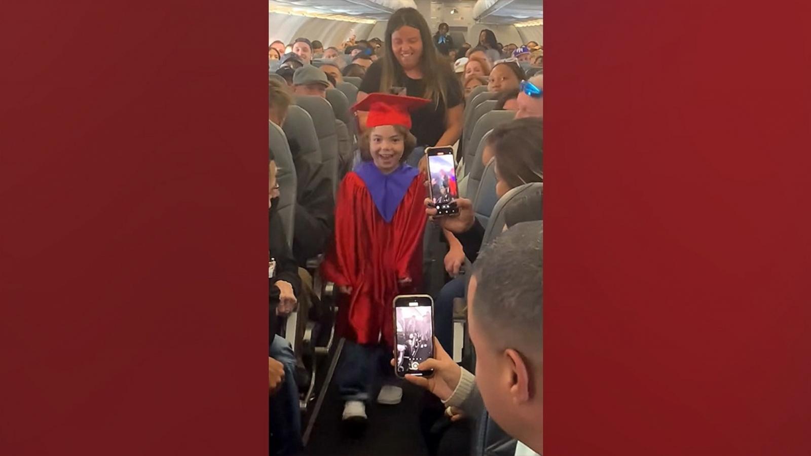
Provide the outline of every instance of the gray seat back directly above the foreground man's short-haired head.
{"type": "Polygon", "coordinates": [[[543,220],[543,183],[525,183],[498,200],[484,230],[482,245],[492,242],[504,231],[508,218],[512,218],[512,222],[543,220]]]}

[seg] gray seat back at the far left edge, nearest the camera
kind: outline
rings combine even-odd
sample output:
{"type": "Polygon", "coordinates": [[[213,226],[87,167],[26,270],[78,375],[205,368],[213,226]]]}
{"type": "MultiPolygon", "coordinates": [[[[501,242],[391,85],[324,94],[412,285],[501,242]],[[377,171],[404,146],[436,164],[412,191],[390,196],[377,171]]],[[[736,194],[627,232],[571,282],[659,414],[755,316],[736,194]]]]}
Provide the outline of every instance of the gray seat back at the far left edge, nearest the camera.
{"type": "Polygon", "coordinates": [[[293,156],[290,154],[290,145],[287,144],[285,132],[277,124],[268,122],[268,147],[273,152],[274,161],[278,168],[276,180],[279,184],[279,200],[276,211],[285,227],[287,245],[293,248],[293,228],[296,209],[296,168],[293,156]]]}

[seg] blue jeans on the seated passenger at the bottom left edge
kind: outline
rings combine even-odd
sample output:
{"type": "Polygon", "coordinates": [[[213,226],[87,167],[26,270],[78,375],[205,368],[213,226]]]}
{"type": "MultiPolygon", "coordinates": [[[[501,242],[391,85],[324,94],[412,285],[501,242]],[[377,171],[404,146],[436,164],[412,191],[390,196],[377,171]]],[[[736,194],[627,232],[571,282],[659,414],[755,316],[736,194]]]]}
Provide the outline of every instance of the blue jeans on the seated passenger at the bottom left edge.
{"type": "Polygon", "coordinates": [[[285,367],[285,381],[270,398],[270,454],[297,454],[302,447],[301,411],[296,385],[296,356],[290,343],[272,334],[269,355],[285,367]]]}

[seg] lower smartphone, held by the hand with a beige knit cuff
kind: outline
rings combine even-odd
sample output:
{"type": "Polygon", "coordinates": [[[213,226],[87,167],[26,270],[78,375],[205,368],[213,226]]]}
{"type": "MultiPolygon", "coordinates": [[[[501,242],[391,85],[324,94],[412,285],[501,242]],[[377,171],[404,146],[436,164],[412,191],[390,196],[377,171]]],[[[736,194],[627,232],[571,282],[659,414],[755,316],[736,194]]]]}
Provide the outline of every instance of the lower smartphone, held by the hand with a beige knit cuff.
{"type": "Polygon", "coordinates": [[[417,367],[434,357],[434,300],[429,295],[394,298],[394,373],[431,376],[417,367]]]}

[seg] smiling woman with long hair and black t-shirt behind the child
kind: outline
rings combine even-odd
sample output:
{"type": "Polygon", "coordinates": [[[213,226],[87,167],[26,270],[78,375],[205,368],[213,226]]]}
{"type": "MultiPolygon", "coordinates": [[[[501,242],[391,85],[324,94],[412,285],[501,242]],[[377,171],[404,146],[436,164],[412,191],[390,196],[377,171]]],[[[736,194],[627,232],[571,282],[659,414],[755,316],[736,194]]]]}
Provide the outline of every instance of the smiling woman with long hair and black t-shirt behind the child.
{"type": "MultiPolygon", "coordinates": [[[[386,27],[384,58],[372,63],[358,91],[358,102],[370,93],[405,88],[406,95],[431,100],[411,114],[411,133],[418,146],[451,146],[462,127],[461,84],[433,45],[428,24],[414,8],[394,11],[386,27]]],[[[358,111],[360,125],[367,113],[358,111]]],[[[363,128],[363,127],[362,127],[363,128]]]]}

